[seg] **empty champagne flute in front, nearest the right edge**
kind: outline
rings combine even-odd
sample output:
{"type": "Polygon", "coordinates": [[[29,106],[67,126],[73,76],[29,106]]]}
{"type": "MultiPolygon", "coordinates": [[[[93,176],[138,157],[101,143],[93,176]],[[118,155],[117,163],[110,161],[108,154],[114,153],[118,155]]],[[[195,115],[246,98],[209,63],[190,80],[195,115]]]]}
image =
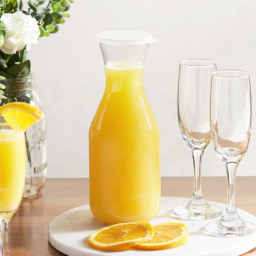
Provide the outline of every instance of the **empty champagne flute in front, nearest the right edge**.
{"type": "Polygon", "coordinates": [[[256,230],[243,221],[235,205],[236,169],[247,151],[251,131],[250,76],[241,70],[212,73],[210,126],[218,157],[227,170],[227,206],[221,219],[206,225],[214,236],[244,236],[256,230]]]}

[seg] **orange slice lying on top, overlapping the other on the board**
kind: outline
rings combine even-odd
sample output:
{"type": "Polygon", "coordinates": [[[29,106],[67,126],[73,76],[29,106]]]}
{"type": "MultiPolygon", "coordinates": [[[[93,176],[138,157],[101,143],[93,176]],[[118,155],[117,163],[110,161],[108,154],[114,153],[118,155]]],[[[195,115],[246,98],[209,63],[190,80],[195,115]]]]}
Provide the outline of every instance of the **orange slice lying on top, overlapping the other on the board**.
{"type": "Polygon", "coordinates": [[[121,250],[154,237],[153,227],[145,221],[113,224],[90,234],[88,244],[101,250],[121,250]]]}

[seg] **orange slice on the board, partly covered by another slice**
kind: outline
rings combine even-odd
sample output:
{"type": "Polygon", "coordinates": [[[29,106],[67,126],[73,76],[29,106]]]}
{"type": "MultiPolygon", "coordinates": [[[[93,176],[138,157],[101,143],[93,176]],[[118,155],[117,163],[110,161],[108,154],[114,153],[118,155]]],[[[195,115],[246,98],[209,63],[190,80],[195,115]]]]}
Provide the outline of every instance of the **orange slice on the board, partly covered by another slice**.
{"type": "Polygon", "coordinates": [[[164,223],[153,226],[154,238],[135,246],[141,250],[163,250],[186,244],[189,239],[187,227],[182,223],[164,223]]]}

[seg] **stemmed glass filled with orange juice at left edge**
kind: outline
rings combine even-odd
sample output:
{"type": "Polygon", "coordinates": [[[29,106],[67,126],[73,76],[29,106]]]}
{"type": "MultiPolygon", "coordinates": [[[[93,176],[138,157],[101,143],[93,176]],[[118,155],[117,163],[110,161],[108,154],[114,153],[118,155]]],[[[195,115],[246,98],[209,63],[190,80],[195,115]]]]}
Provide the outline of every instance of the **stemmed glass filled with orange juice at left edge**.
{"type": "Polygon", "coordinates": [[[7,122],[0,123],[0,255],[9,255],[9,221],[20,205],[26,179],[26,142],[7,122]]]}

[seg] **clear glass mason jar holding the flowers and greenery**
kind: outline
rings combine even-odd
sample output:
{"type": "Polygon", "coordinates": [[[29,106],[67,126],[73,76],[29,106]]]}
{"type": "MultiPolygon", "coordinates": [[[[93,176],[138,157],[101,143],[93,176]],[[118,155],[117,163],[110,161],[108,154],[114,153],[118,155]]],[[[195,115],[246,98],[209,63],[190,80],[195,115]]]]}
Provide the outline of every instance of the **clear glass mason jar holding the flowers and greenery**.
{"type": "MultiPolygon", "coordinates": [[[[1,81],[6,86],[0,105],[9,102],[26,102],[44,111],[44,106],[35,93],[35,77],[12,78],[1,81]]],[[[26,183],[23,199],[34,198],[41,193],[47,174],[46,119],[45,117],[29,127],[26,137],[26,183]]]]}

